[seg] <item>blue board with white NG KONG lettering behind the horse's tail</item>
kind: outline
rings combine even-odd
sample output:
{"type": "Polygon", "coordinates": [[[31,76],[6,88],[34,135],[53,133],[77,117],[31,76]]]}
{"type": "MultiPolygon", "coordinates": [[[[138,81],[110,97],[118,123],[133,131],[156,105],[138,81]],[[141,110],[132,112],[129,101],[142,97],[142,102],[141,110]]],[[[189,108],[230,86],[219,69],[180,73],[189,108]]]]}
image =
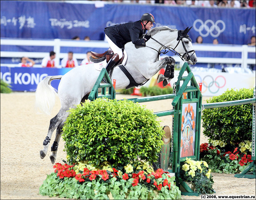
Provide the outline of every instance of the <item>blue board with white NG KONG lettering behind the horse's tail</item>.
{"type": "MultiPolygon", "coordinates": [[[[37,84],[46,76],[64,75],[72,68],[0,67],[1,79],[11,85],[14,91],[35,91],[37,84]]],[[[58,89],[60,80],[51,85],[58,89]]]]}

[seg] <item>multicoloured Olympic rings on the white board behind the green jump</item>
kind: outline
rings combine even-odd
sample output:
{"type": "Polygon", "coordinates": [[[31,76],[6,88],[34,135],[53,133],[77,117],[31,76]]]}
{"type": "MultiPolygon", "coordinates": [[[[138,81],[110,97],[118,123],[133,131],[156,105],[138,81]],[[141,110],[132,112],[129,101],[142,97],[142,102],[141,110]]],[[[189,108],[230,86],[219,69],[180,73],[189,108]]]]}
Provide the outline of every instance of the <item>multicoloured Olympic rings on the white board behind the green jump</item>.
{"type": "Polygon", "coordinates": [[[215,94],[219,91],[220,88],[223,88],[226,85],[226,78],[222,75],[217,76],[215,80],[211,75],[206,75],[203,77],[203,79],[199,75],[194,75],[194,77],[195,79],[196,77],[199,77],[200,80],[197,81],[197,83],[203,83],[203,86],[206,88],[204,91],[202,90],[202,94],[205,93],[207,89],[209,89],[210,93],[215,94]],[[217,80],[219,80],[220,84],[222,85],[220,85],[217,80]]]}

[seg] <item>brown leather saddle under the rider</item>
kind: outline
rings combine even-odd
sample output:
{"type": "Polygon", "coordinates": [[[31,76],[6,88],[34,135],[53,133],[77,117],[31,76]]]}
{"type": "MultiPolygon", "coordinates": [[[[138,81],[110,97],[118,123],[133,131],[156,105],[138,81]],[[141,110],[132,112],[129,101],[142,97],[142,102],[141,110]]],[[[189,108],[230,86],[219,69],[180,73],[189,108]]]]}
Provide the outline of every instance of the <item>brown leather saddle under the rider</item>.
{"type": "MultiPolygon", "coordinates": [[[[111,48],[108,48],[108,50],[105,51],[104,53],[96,53],[91,51],[91,54],[92,55],[90,56],[90,61],[95,63],[101,62],[103,60],[106,60],[108,62],[114,56],[114,52],[112,51],[111,48]]],[[[123,59],[124,59],[124,52],[123,52],[122,58],[119,61],[117,61],[116,65],[121,64],[123,59]]]]}

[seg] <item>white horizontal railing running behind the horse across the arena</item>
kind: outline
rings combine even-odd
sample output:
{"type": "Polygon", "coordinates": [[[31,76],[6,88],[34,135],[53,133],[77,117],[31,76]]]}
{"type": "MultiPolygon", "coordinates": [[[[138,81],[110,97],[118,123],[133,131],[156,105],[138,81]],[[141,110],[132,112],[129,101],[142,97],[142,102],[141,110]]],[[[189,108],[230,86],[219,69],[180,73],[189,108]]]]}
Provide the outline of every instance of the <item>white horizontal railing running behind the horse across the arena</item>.
{"type": "MultiPolygon", "coordinates": [[[[76,41],[76,40],[30,40],[30,39],[1,39],[1,45],[15,45],[15,46],[52,46],[53,51],[56,52],[56,63],[59,64],[60,59],[64,58],[67,53],[61,53],[61,47],[88,47],[88,48],[108,48],[109,45],[104,41],[76,41]]],[[[246,68],[248,64],[255,64],[255,58],[248,58],[248,52],[256,52],[255,47],[247,45],[212,45],[212,44],[193,44],[195,51],[205,52],[241,52],[241,58],[223,58],[223,57],[197,57],[198,63],[223,63],[223,64],[241,64],[241,67],[246,68]]],[[[10,52],[1,51],[1,57],[30,57],[43,58],[49,55],[49,52],[10,52]]],[[[99,52],[102,53],[102,52],[99,52]]],[[[84,59],[86,53],[74,53],[76,59],[84,59]]],[[[173,56],[176,62],[183,64],[178,56],[173,56]]],[[[17,66],[16,64],[4,64],[0,66],[17,66]]],[[[40,67],[40,65],[34,65],[40,67]]],[[[59,66],[58,66],[59,67],[59,66]]]]}

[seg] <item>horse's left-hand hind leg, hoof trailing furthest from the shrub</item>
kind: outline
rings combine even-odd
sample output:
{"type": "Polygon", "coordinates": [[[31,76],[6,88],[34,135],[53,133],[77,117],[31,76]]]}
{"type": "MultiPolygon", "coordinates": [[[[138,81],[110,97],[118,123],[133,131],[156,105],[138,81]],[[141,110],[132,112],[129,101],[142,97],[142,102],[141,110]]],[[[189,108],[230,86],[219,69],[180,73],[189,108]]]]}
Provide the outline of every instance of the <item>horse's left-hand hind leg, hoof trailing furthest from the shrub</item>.
{"type": "Polygon", "coordinates": [[[63,109],[61,109],[58,112],[58,114],[50,120],[50,126],[49,126],[49,129],[48,129],[48,134],[47,134],[46,138],[43,141],[43,149],[40,150],[40,157],[42,159],[47,154],[53,131],[56,129],[57,125],[60,124],[60,122],[63,121],[64,114],[66,114],[66,110],[64,111],[63,109]]]}

